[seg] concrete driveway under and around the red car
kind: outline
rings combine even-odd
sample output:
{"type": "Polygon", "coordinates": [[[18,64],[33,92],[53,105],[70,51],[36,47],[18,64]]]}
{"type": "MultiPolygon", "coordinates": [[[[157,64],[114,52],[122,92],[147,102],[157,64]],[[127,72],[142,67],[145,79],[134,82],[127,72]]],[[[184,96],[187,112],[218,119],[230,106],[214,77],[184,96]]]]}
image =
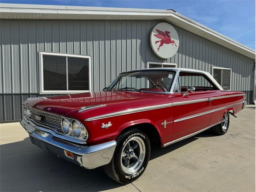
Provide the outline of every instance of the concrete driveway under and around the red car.
{"type": "Polygon", "coordinates": [[[255,191],[255,106],[231,116],[228,133],[202,132],[153,148],[144,174],[121,185],[30,143],[19,123],[0,124],[0,191],[255,191]]]}

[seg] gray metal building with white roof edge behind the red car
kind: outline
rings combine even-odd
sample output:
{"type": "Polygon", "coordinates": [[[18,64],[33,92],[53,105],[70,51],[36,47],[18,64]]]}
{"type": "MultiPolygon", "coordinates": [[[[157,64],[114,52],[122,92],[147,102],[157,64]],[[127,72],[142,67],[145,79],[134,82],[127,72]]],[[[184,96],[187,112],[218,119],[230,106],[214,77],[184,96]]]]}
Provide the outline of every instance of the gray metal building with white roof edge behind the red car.
{"type": "Polygon", "coordinates": [[[210,72],[254,103],[255,50],[174,10],[0,4],[0,19],[0,122],[20,120],[28,97],[98,91],[120,72],[154,66],[210,72]],[[160,22],[179,36],[168,59],[150,47],[160,22]],[[53,63],[58,75],[43,76],[53,63]],[[83,70],[76,73],[73,63],[83,70]]]}

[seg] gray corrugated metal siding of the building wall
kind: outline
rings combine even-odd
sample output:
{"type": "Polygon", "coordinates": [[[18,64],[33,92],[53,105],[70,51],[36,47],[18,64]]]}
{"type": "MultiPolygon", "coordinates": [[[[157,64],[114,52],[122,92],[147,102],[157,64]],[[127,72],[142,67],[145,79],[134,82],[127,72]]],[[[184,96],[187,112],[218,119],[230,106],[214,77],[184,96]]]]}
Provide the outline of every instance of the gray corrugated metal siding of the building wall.
{"type": "Polygon", "coordinates": [[[92,56],[93,91],[107,86],[120,72],[146,68],[148,61],[210,73],[212,66],[232,68],[231,89],[246,92],[251,102],[254,60],[178,26],[174,26],[180,38],[178,52],[160,59],[149,41],[159,22],[0,20],[0,121],[20,119],[20,102],[38,96],[38,51],[92,56]]]}

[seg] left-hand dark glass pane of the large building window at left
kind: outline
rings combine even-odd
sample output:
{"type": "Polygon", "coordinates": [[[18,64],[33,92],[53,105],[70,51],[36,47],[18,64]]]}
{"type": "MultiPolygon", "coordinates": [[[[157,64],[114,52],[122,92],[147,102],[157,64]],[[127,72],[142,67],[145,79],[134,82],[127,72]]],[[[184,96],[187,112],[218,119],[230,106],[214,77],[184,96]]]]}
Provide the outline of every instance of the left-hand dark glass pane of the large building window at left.
{"type": "Polygon", "coordinates": [[[44,90],[67,90],[66,57],[43,56],[44,90]]]}

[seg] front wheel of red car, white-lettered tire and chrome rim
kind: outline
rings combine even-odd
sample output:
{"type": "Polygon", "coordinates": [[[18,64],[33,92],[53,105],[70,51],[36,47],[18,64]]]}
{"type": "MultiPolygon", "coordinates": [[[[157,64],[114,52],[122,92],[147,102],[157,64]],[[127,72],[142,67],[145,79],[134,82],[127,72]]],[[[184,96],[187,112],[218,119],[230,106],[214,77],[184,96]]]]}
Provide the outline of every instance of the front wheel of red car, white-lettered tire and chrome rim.
{"type": "Polygon", "coordinates": [[[127,184],[138,179],[145,171],[150,158],[150,140],[139,129],[118,136],[116,150],[104,172],[116,182],[127,184]]]}

